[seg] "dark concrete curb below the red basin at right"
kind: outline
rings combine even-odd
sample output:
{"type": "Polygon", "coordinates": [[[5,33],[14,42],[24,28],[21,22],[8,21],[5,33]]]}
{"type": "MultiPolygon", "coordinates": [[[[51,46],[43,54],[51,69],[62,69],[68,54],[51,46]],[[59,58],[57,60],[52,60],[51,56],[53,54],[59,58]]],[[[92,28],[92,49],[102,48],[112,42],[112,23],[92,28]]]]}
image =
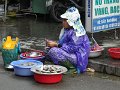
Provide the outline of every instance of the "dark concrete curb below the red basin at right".
{"type": "Polygon", "coordinates": [[[120,60],[107,59],[89,59],[89,67],[97,72],[120,76],[120,60]]]}

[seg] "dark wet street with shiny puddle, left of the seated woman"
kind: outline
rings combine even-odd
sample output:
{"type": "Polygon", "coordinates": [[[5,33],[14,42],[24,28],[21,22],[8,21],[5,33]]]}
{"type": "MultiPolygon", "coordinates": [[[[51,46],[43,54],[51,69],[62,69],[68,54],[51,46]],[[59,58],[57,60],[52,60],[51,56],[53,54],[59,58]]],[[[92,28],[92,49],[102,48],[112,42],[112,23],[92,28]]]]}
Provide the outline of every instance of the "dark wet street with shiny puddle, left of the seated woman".
{"type": "Polygon", "coordinates": [[[34,21],[32,19],[12,19],[0,25],[0,38],[14,35],[20,38],[21,48],[44,49],[45,38],[58,40],[61,24],[34,21]]]}

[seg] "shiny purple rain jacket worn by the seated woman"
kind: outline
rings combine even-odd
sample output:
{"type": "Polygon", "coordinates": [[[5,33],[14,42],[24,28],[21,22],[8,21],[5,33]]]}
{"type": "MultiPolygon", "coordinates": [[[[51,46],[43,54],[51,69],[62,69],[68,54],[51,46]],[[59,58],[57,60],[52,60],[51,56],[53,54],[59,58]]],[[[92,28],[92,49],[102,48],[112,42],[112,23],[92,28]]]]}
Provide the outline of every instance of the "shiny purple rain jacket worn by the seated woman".
{"type": "Polygon", "coordinates": [[[88,64],[88,56],[90,52],[90,42],[87,35],[77,37],[74,29],[64,29],[64,34],[59,40],[61,49],[77,57],[77,71],[84,72],[88,64]]]}

